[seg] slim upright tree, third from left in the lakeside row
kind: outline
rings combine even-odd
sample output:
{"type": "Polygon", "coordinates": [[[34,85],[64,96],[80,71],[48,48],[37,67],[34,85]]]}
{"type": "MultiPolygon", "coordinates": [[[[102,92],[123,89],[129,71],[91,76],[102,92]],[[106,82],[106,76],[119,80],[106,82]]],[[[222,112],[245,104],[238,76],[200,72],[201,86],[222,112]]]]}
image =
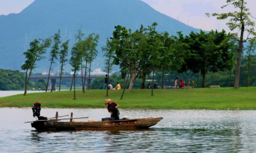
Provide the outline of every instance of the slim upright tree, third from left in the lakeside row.
{"type": "Polygon", "coordinates": [[[61,77],[60,77],[59,91],[61,91],[62,73],[64,71],[64,66],[66,65],[65,63],[68,61],[68,59],[67,59],[68,44],[69,44],[69,40],[62,44],[61,48],[63,48],[63,49],[60,51],[61,77]]]}

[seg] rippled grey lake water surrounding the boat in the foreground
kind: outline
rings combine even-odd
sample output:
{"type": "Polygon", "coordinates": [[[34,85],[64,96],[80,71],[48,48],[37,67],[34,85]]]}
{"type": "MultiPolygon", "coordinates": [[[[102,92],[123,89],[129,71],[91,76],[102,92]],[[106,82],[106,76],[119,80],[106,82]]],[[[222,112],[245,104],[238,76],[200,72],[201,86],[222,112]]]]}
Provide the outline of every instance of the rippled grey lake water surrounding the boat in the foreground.
{"type": "MultiPolygon", "coordinates": [[[[122,106],[122,105],[121,105],[122,106]]],[[[48,109],[41,116],[73,112],[80,121],[109,117],[107,109],[48,109]]],[[[0,152],[256,152],[256,111],[124,110],[120,117],[163,117],[135,131],[37,132],[31,108],[0,108],[0,152]]]]}

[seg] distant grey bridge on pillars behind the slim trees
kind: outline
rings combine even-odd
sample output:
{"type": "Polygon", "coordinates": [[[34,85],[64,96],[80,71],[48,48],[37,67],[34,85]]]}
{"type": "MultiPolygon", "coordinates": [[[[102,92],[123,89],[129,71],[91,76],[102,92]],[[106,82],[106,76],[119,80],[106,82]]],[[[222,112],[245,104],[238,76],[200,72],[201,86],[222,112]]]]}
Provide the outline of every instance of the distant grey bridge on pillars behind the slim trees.
{"type": "MultiPolygon", "coordinates": [[[[93,80],[95,80],[98,77],[104,77],[104,75],[90,75],[90,81],[89,81],[89,75],[86,75],[86,89],[88,89],[88,82],[91,85],[91,83],[93,82],[93,80]]],[[[59,80],[61,78],[61,76],[56,76],[56,75],[50,75],[50,86],[49,87],[53,87],[52,90],[55,91],[56,90],[56,80],[59,80]]],[[[82,78],[82,75],[76,75],[75,77],[76,79],[78,78],[82,78]]],[[[83,75],[84,78],[84,75],[83,75]]],[[[30,80],[39,80],[39,79],[48,79],[48,75],[32,75],[30,77],[30,80]]],[[[73,75],[62,75],[62,80],[63,79],[73,79],[73,75]]]]}

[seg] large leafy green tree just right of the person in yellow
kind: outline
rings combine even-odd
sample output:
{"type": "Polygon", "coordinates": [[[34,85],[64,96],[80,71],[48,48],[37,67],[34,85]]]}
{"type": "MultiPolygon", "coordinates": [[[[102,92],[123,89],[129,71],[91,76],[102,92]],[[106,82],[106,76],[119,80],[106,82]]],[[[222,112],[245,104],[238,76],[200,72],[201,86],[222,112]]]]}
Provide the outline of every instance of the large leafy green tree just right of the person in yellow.
{"type": "Polygon", "coordinates": [[[127,30],[124,26],[115,26],[113,37],[116,43],[116,57],[114,62],[119,65],[121,69],[130,69],[130,86],[129,92],[135,79],[143,73],[142,68],[148,63],[150,56],[147,46],[147,39],[145,29],[142,25],[139,30],[132,32],[131,29],[127,30]],[[145,48],[143,47],[145,46],[145,48]]]}

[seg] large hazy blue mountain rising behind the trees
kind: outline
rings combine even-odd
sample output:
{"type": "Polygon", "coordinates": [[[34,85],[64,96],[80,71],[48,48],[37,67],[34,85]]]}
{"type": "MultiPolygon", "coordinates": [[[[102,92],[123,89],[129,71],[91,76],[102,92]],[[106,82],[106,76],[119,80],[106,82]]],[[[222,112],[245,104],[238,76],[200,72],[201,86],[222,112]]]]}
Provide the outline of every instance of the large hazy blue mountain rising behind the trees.
{"type": "MultiPolygon", "coordinates": [[[[111,36],[115,25],[135,30],[141,24],[148,26],[153,22],[158,22],[159,32],[168,31],[172,35],[177,31],[184,34],[199,31],[139,0],[36,0],[18,14],[0,16],[0,68],[21,70],[25,61],[22,53],[29,49],[30,42],[45,39],[58,29],[61,29],[62,41],[71,39],[73,45],[74,35],[80,27],[86,35],[92,32],[100,35],[99,57],[95,61],[100,68],[104,66],[100,48],[106,37],[111,36]]],[[[48,69],[49,54],[45,56],[45,60],[37,65],[37,72],[48,69]]],[[[54,66],[58,67],[58,63],[54,66]]]]}

